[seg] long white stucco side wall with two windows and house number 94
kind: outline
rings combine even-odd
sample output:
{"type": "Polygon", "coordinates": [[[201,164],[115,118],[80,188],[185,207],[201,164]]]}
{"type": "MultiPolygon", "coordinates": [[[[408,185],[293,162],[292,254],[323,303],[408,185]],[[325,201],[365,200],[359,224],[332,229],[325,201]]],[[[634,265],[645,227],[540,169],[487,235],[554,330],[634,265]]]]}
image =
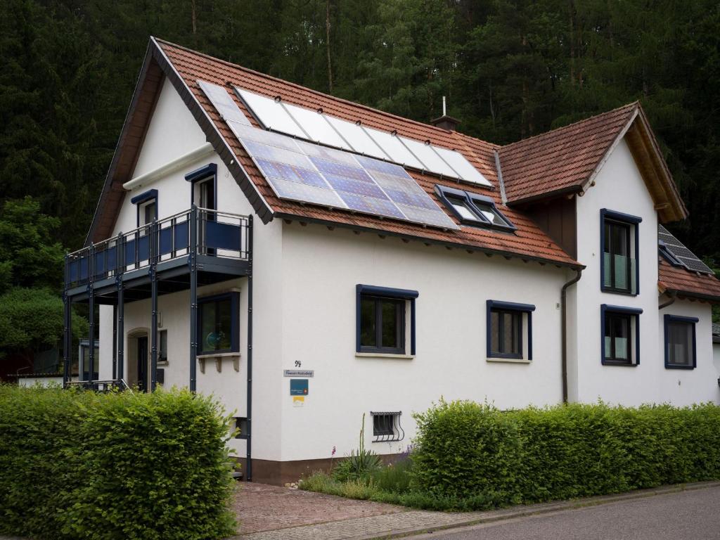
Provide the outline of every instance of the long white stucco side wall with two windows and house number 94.
{"type": "Polygon", "coordinates": [[[289,379],[276,374],[283,460],[355,449],[363,413],[369,447],[387,454],[410,444],[411,414],[440,397],[503,409],[562,399],[557,302],[566,271],[297,222],[283,236],[282,368],[300,361],[315,371],[302,407],[293,405],[289,379]],[[415,358],[356,356],[356,284],[419,292],[415,358]],[[536,305],[530,364],[487,361],[487,300],[536,305]],[[371,443],[370,411],[399,410],[405,440],[371,443]]]}

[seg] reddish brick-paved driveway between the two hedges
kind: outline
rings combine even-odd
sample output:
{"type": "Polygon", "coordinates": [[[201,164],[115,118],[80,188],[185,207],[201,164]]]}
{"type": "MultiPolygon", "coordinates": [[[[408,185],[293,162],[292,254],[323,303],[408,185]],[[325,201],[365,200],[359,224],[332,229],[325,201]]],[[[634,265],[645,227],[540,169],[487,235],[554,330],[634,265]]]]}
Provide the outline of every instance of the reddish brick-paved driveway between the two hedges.
{"type": "Polygon", "coordinates": [[[405,512],[402,506],[352,500],[287,487],[238,482],[233,509],[240,534],[405,512]]]}

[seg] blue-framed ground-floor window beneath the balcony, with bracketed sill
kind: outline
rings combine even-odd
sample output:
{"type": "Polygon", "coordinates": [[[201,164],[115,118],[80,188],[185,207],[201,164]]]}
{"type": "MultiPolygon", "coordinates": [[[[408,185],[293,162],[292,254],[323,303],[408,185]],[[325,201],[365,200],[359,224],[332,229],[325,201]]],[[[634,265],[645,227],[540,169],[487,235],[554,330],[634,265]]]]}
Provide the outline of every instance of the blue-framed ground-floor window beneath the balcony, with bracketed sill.
{"type": "Polygon", "coordinates": [[[197,300],[198,354],[240,350],[239,297],[237,292],[230,292],[197,300]]]}

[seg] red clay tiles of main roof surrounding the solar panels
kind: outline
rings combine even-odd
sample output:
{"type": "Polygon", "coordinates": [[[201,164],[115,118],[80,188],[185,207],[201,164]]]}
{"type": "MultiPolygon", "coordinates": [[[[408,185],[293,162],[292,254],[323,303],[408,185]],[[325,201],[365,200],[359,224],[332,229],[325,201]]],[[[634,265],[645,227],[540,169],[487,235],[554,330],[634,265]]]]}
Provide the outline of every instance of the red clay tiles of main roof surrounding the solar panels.
{"type": "MultiPolygon", "coordinates": [[[[173,68],[179,73],[184,84],[192,91],[195,99],[201,104],[204,112],[210,117],[217,127],[217,130],[230,146],[240,165],[251,179],[257,191],[261,194],[266,204],[279,217],[293,217],[300,220],[318,220],[321,222],[332,222],[346,225],[352,228],[363,230],[377,230],[378,233],[390,233],[405,238],[418,238],[421,240],[443,243],[446,245],[463,246],[475,248],[479,251],[491,251],[506,254],[508,256],[519,256],[528,260],[551,261],[555,264],[567,266],[582,266],[575,261],[557,243],[549,238],[535,223],[523,212],[503,207],[498,191],[482,188],[481,186],[463,184],[462,189],[470,192],[485,194],[495,198],[498,207],[518,228],[516,233],[502,233],[498,231],[463,227],[462,230],[439,230],[426,228],[413,223],[398,222],[389,219],[378,219],[373,216],[351,214],[343,210],[328,210],[324,207],[315,207],[307,204],[300,204],[286,199],[279,199],[274,194],[262,174],[254,166],[251,158],[243,150],[242,146],[230,131],[215,107],[204,96],[199,89],[197,80],[203,80],[228,88],[228,84],[243,89],[255,91],[266,96],[282,96],[283,101],[297,104],[310,109],[323,108],[323,111],[344,120],[361,120],[364,125],[376,127],[380,130],[396,130],[399,135],[417,140],[430,140],[434,145],[444,146],[461,152],[473,166],[475,166],[493,185],[497,184],[495,169],[494,151],[496,145],[485,143],[458,132],[442,130],[438,127],[421,124],[413,120],[397,117],[392,114],[370,109],[359,104],[347,102],[333,96],[327,96],[320,92],[313,91],[296,84],[282,81],[270,76],[262,75],[255,71],[235,66],[234,64],[212,58],[207,55],[196,53],[192,50],[181,48],[168,42],[158,40],[158,45],[168,58],[173,68]]],[[[242,102],[234,96],[238,104],[248,118],[247,109],[242,102]]],[[[456,186],[458,182],[443,180],[426,174],[410,174],[418,181],[423,189],[438,204],[442,203],[436,197],[434,186],[443,184],[456,186]]]]}

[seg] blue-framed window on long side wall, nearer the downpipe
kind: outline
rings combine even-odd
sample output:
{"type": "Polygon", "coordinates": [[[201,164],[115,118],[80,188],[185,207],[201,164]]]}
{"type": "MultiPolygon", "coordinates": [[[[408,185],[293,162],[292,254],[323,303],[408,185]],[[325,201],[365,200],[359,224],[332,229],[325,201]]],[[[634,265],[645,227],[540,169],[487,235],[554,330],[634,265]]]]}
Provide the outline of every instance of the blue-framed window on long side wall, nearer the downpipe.
{"type": "Polygon", "coordinates": [[[534,310],[531,304],[487,300],[488,358],[533,359],[534,310]],[[527,356],[523,343],[527,343],[527,356]]]}

